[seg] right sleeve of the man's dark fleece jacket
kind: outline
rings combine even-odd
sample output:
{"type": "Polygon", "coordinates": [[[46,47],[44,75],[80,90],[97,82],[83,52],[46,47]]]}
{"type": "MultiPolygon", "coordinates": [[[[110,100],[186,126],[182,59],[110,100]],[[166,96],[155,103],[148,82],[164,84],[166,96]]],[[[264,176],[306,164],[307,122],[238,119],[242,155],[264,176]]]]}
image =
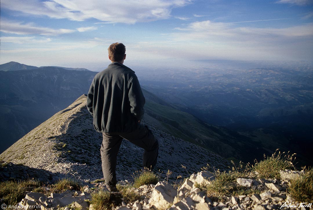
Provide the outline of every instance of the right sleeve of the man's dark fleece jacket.
{"type": "Polygon", "coordinates": [[[137,120],[143,118],[143,107],[146,103],[146,99],[143,96],[141,87],[136,75],[134,75],[128,82],[128,98],[131,105],[131,113],[137,120]]]}

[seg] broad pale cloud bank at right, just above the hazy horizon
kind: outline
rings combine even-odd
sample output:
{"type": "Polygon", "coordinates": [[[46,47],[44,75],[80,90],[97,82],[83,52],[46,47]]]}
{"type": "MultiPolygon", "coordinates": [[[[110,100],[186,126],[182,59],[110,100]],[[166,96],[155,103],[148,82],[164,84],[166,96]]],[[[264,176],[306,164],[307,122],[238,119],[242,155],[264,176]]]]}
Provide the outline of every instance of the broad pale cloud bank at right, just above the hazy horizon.
{"type": "Polygon", "coordinates": [[[223,59],[311,59],[313,24],[273,28],[239,27],[223,22],[192,22],[168,34],[175,43],[188,43],[191,57],[223,59]]]}

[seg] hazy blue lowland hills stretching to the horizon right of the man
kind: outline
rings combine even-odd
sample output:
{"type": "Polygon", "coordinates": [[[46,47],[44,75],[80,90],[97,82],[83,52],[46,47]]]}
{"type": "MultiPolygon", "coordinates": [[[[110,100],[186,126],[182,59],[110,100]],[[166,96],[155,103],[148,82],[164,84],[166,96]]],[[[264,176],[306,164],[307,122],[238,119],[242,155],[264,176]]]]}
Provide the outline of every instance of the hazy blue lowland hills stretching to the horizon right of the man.
{"type": "Polygon", "coordinates": [[[256,148],[291,151],[299,162],[313,165],[313,64],[239,68],[225,63],[227,68],[142,71],[141,86],[176,109],[247,136],[256,148]]]}

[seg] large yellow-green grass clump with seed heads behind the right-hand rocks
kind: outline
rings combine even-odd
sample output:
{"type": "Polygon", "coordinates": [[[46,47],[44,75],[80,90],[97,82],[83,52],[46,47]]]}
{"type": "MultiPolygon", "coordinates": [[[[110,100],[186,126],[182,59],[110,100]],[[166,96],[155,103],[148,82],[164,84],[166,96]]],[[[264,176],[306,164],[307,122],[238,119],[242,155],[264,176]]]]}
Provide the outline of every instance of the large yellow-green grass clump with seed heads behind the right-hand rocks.
{"type": "Polygon", "coordinates": [[[253,168],[260,178],[277,178],[280,179],[280,170],[294,169],[293,161],[294,154],[280,153],[279,149],[276,149],[275,153],[271,157],[265,157],[264,160],[257,162],[251,168],[253,168]]]}

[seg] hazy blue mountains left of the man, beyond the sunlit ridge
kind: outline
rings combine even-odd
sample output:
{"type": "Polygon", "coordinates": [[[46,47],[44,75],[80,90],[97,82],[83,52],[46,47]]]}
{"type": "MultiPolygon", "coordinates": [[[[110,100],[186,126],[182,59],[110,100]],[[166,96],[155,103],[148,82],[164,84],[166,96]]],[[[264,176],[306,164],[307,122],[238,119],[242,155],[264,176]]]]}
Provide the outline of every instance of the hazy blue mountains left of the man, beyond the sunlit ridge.
{"type": "Polygon", "coordinates": [[[0,152],[87,93],[97,73],[16,62],[0,70],[0,152]]]}

